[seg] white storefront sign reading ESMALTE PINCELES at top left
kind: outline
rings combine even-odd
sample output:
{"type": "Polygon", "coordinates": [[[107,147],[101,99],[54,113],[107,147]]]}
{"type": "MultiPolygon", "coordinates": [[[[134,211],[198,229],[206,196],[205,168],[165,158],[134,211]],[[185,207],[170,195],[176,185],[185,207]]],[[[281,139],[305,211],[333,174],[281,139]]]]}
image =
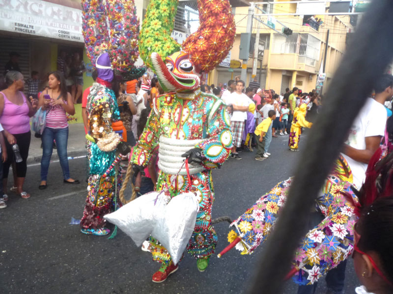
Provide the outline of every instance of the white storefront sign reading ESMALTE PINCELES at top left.
{"type": "Polygon", "coordinates": [[[0,30],[84,42],[82,10],[40,0],[0,0],[0,30]]]}

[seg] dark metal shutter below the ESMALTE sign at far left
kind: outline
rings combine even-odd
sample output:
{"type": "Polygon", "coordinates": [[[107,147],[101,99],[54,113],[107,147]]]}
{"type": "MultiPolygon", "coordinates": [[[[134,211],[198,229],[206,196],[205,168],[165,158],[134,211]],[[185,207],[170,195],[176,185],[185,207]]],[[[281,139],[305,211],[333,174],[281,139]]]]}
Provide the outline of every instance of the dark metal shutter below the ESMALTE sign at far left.
{"type": "MultiPolygon", "coordinates": [[[[19,67],[25,79],[30,77],[30,42],[21,38],[3,38],[0,37],[0,76],[4,80],[4,66],[9,61],[9,53],[11,51],[18,52],[19,67]]],[[[50,60],[48,60],[50,62],[50,60]]],[[[25,84],[25,92],[27,92],[27,85],[25,84]]]]}

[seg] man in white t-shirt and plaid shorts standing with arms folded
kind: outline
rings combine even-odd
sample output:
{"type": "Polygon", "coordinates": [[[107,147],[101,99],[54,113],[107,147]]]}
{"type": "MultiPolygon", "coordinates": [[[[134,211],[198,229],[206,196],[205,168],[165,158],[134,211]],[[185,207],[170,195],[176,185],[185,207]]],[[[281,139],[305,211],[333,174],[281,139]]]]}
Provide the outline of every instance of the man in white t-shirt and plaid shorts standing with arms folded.
{"type": "Polygon", "coordinates": [[[236,83],[236,91],[227,99],[227,104],[232,104],[233,106],[233,114],[230,119],[233,138],[231,157],[235,159],[242,159],[236,152],[236,147],[240,147],[242,144],[244,122],[247,120],[247,111],[251,103],[251,99],[243,93],[243,89],[244,81],[239,80],[236,83]]]}

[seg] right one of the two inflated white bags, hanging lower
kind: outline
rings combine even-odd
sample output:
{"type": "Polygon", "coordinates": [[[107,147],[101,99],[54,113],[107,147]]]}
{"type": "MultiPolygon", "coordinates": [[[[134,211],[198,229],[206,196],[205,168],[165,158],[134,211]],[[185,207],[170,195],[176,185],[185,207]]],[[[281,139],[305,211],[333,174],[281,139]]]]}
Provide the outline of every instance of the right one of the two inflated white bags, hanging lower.
{"type": "Polygon", "coordinates": [[[163,214],[157,215],[151,236],[167,248],[174,264],[178,263],[193,234],[198,205],[194,193],[179,194],[169,201],[163,214]]]}

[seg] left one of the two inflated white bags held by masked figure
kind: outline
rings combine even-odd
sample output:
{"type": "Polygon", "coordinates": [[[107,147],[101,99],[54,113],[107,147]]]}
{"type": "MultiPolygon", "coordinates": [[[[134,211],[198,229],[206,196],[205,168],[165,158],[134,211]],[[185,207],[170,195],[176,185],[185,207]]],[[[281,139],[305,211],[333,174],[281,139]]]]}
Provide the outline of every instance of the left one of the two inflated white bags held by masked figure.
{"type": "Polygon", "coordinates": [[[159,192],[144,194],[115,212],[107,214],[104,219],[117,225],[137,246],[140,246],[153,231],[158,214],[164,212],[168,202],[168,197],[164,193],[158,195],[159,192]],[[156,199],[157,202],[154,204],[156,199]]]}

